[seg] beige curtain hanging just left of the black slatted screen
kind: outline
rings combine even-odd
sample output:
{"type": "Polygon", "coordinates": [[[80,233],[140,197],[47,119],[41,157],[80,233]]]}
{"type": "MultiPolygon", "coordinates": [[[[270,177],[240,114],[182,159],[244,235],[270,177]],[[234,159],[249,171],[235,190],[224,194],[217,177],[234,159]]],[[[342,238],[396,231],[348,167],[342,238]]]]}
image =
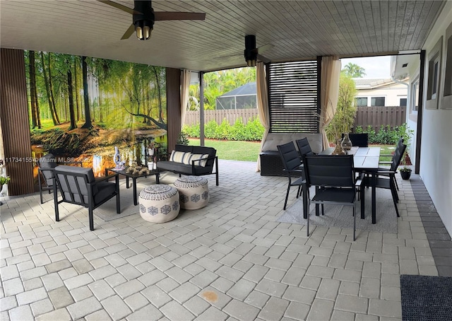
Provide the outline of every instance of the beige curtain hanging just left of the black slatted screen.
{"type": "MultiPolygon", "coordinates": [[[[259,152],[262,151],[262,146],[268,131],[270,130],[270,115],[268,107],[268,89],[267,89],[267,78],[266,78],[266,66],[263,62],[258,62],[256,64],[256,93],[257,93],[257,113],[262,126],[266,129],[263,132],[261,148],[259,152]]],[[[257,156],[257,168],[256,172],[261,171],[261,158],[257,156]]]]}

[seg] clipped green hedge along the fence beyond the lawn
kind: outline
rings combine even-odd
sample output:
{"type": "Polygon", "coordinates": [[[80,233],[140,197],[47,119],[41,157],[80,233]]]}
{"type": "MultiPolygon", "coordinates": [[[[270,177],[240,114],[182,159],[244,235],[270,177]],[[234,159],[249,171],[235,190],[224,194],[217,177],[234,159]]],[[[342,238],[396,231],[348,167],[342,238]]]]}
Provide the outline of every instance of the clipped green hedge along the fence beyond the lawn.
{"type": "MultiPolygon", "coordinates": [[[[234,125],[230,125],[226,119],[223,119],[220,125],[215,120],[210,120],[204,127],[204,136],[206,139],[225,139],[228,141],[260,141],[264,128],[255,117],[244,124],[242,118],[237,119],[234,125]]],[[[184,125],[182,132],[191,138],[199,137],[199,124],[184,125]]]]}

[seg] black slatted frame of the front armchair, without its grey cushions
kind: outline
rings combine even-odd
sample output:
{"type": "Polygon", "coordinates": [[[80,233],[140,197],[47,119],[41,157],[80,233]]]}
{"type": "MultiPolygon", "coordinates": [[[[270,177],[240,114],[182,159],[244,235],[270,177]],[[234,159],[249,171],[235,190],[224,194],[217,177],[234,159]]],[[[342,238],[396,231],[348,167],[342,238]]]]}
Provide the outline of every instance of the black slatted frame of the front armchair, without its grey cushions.
{"type": "Polygon", "coordinates": [[[55,204],[55,220],[59,222],[59,209],[58,205],[66,202],[71,204],[77,204],[81,205],[83,207],[88,208],[88,217],[90,221],[90,230],[94,230],[94,217],[93,217],[93,210],[97,209],[100,205],[107,202],[109,199],[112,199],[112,197],[116,196],[116,211],[117,214],[121,213],[121,207],[120,207],[120,201],[119,201],[119,175],[118,174],[112,174],[105,177],[102,177],[100,179],[95,180],[95,182],[88,182],[88,175],[86,173],[69,173],[66,171],[59,171],[58,169],[54,170],[54,204],[55,204]],[[60,177],[64,178],[65,186],[69,187],[68,191],[64,191],[63,187],[60,183],[60,177]],[[76,185],[76,191],[71,190],[71,185],[69,184],[68,177],[73,177],[73,182],[76,185]],[[84,195],[82,193],[80,180],[78,180],[77,177],[81,177],[83,179],[84,185],[86,189],[88,190],[88,193],[86,197],[88,197],[88,202],[85,202],[84,195]],[[102,199],[101,202],[98,204],[95,204],[94,198],[93,198],[93,187],[94,185],[97,185],[99,182],[107,182],[110,178],[114,177],[114,182],[116,184],[114,193],[110,194],[108,197],[105,197],[105,199],[102,199]],[[61,192],[62,199],[58,200],[58,189],[61,192]],[[66,194],[69,194],[69,198],[66,197],[66,194]],[[78,196],[78,201],[76,199],[76,196],[78,196]]]}

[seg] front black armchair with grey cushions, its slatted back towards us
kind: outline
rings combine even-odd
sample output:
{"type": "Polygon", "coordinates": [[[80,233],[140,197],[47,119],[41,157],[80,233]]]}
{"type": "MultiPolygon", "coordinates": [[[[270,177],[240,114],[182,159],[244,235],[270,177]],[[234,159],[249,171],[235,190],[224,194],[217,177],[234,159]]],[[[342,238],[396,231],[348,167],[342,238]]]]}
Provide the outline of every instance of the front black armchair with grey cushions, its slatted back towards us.
{"type": "Polygon", "coordinates": [[[119,204],[119,176],[113,174],[95,179],[92,168],[58,165],[54,168],[55,219],[59,221],[58,205],[66,202],[88,208],[90,230],[94,230],[93,210],[116,197],[116,211],[121,213],[119,204]],[[114,177],[114,182],[107,182],[114,177]],[[61,200],[58,200],[58,189],[61,200]]]}

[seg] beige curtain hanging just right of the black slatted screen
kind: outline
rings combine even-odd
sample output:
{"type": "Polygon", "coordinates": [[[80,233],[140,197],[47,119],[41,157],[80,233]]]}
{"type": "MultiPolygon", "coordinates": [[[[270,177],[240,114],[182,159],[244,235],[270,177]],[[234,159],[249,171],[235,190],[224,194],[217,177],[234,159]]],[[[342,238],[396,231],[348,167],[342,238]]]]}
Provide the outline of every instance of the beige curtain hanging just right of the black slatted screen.
{"type": "Polygon", "coordinates": [[[323,135],[323,148],[328,147],[325,128],[338,107],[340,67],[338,57],[322,57],[320,130],[323,135]]]}

